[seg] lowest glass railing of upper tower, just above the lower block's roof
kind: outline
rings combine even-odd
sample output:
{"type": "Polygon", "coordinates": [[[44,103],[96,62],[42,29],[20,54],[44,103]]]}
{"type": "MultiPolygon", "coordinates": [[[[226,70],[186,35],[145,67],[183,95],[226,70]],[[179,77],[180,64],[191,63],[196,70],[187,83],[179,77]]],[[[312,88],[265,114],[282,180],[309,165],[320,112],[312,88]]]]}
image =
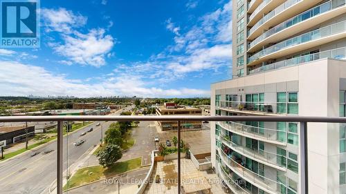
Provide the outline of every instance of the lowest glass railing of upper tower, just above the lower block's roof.
{"type": "Polygon", "coordinates": [[[251,71],[248,71],[248,75],[255,75],[257,73],[267,72],[270,70],[280,69],[289,66],[297,66],[299,64],[304,64],[310,61],[316,61],[318,59],[325,58],[346,60],[346,47],[313,53],[310,55],[303,55],[300,57],[294,57],[292,59],[286,59],[284,61],[278,61],[274,64],[268,64],[266,66],[262,66],[260,68],[255,68],[251,71]]]}

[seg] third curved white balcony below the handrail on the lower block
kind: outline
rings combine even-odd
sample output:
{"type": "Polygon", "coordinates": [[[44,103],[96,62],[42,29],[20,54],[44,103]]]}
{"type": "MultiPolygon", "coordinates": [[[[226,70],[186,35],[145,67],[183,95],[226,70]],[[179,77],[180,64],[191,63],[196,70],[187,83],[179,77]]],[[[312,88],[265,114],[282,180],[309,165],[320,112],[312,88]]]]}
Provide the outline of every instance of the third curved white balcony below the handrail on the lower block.
{"type": "Polygon", "coordinates": [[[226,153],[224,153],[224,151],[221,148],[219,148],[219,153],[221,153],[221,161],[224,162],[224,164],[226,164],[226,166],[228,166],[228,168],[230,168],[230,170],[236,173],[239,177],[242,177],[247,182],[250,182],[254,186],[257,186],[258,188],[262,189],[263,191],[266,191],[267,193],[280,193],[280,186],[277,185],[282,184],[281,182],[268,179],[268,177],[262,176],[249,170],[248,168],[245,168],[238,162],[235,162],[232,156],[226,155],[226,153]]]}

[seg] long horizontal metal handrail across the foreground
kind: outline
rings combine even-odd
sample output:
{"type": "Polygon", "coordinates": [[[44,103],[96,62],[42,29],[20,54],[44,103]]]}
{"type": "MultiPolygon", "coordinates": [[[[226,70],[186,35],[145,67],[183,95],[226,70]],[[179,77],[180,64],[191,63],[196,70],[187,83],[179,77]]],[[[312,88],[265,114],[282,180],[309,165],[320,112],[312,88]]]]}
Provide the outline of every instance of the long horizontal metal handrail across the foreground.
{"type": "Polygon", "coordinates": [[[321,122],[346,123],[346,117],[309,116],[5,116],[0,122],[68,122],[68,121],[209,121],[209,122],[321,122]]]}

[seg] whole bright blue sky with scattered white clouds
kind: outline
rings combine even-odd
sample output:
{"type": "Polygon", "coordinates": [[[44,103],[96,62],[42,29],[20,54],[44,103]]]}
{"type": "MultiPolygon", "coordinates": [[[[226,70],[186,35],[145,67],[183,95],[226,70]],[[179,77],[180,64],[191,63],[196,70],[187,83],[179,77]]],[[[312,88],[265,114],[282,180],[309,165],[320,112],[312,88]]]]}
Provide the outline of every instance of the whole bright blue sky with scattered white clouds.
{"type": "Polygon", "coordinates": [[[41,1],[41,48],[0,49],[0,95],[208,97],[231,72],[232,2],[41,1]]]}

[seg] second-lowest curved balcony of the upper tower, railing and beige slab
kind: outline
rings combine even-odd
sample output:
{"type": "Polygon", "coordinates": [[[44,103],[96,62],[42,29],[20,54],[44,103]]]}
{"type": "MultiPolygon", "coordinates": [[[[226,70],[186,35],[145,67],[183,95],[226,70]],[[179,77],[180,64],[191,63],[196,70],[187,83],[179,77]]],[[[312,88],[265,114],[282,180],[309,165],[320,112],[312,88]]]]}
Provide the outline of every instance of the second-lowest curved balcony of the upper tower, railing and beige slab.
{"type": "Polygon", "coordinates": [[[300,50],[307,50],[344,37],[346,37],[346,21],[340,21],[265,48],[248,58],[248,66],[292,55],[300,50]]]}

